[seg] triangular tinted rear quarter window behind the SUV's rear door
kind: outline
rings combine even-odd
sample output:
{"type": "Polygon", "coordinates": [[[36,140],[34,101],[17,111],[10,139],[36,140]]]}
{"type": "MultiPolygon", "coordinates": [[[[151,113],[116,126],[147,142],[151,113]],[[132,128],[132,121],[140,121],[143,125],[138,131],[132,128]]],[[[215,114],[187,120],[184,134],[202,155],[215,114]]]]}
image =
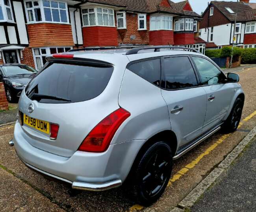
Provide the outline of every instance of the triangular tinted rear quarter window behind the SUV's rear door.
{"type": "Polygon", "coordinates": [[[127,69],[156,86],[160,85],[160,59],[145,60],[128,65],[127,69]]]}

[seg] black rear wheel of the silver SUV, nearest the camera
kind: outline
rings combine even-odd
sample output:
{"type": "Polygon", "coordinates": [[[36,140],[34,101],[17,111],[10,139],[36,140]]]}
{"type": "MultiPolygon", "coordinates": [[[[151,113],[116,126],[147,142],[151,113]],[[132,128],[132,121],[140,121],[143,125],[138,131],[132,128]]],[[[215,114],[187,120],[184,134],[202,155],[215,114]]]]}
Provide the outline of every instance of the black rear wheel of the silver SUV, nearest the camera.
{"type": "Polygon", "coordinates": [[[132,197],[142,205],[154,203],[171,177],[173,154],[162,141],[152,144],[137,161],[132,172],[132,197]]]}

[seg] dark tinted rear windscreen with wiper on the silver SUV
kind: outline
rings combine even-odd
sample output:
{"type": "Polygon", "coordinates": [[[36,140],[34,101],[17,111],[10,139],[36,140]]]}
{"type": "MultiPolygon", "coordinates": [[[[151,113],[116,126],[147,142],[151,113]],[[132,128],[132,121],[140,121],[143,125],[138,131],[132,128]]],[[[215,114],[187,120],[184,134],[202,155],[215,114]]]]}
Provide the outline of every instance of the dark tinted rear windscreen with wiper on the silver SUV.
{"type": "Polygon", "coordinates": [[[25,92],[30,99],[42,103],[87,101],[104,91],[112,73],[112,66],[49,63],[25,92]]]}

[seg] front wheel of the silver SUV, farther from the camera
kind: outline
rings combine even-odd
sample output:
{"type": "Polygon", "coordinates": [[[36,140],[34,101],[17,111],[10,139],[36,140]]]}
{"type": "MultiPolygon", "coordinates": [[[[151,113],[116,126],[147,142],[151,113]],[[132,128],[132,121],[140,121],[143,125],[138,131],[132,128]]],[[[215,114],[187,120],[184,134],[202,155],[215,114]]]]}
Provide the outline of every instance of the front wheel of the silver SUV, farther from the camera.
{"type": "Polygon", "coordinates": [[[231,133],[237,130],[242,116],[243,103],[243,100],[239,97],[234,102],[232,110],[223,124],[223,131],[225,133],[231,133]]]}

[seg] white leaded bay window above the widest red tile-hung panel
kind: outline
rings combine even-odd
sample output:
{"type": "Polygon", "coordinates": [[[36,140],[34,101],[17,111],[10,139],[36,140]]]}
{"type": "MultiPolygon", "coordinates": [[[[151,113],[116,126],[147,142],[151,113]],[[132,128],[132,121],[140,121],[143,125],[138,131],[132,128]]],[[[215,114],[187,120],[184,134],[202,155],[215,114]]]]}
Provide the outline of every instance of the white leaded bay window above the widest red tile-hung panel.
{"type": "Polygon", "coordinates": [[[107,8],[82,9],[83,26],[115,26],[114,10],[107,8]]]}

